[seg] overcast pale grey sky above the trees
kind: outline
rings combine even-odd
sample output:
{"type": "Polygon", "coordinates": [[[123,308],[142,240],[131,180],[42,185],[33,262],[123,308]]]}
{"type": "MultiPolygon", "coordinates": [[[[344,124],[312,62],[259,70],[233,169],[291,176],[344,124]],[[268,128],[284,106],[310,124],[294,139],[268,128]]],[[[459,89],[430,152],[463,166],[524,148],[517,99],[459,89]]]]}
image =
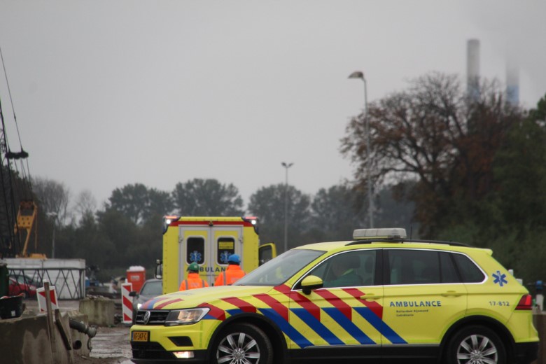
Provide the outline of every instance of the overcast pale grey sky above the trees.
{"type": "MultiPolygon", "coordinates": [[[[546,93],[544,0],[0,0],[0,47],[32,176],[105,201],[128,183],[171,191],[193,178],[314,194],[353,167],[339,153],[351,116],[429,71],[546,93]]],[[[8,140],[18,150],[6,80],[8,140]]]]}

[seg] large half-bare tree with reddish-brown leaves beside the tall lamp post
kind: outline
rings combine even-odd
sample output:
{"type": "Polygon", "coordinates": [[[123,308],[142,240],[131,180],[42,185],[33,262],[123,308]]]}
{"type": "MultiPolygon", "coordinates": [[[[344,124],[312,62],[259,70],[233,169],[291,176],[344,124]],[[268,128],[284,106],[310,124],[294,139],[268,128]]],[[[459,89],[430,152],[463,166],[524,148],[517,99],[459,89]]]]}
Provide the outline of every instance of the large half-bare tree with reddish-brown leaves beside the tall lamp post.
{"type": "Polygon", "coordinates": [[[521,113],[505,104],[496,82],[483,82],[479,97],[471,99],[456,76],[430,73],[372,104],[367,117],[372,153],[366,155],[362,114],[347,126],[342,153],[356,164],[362,186],[368,159],[375,183],[416,181],[406,197],[416,203],[427,237],[450,217],[459,218],[461,203],[493,188],[493,156],[521,113]]]}

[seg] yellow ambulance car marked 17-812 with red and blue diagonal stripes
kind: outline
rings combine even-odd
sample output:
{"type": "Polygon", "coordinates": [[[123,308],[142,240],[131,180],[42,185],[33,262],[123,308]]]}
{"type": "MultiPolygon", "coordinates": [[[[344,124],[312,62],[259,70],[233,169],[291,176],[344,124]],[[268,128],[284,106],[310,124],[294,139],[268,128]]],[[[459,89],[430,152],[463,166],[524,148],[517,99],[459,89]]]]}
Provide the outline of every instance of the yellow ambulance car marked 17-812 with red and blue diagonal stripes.
{"type": "Polygon", "coordinates": [[[353,238],[293,248],[233,286],[155,297],[130,330],[132,360],[537,358],[531,295],[491,250],[407,239],[403,229],[355,230],[353,238]]]}

